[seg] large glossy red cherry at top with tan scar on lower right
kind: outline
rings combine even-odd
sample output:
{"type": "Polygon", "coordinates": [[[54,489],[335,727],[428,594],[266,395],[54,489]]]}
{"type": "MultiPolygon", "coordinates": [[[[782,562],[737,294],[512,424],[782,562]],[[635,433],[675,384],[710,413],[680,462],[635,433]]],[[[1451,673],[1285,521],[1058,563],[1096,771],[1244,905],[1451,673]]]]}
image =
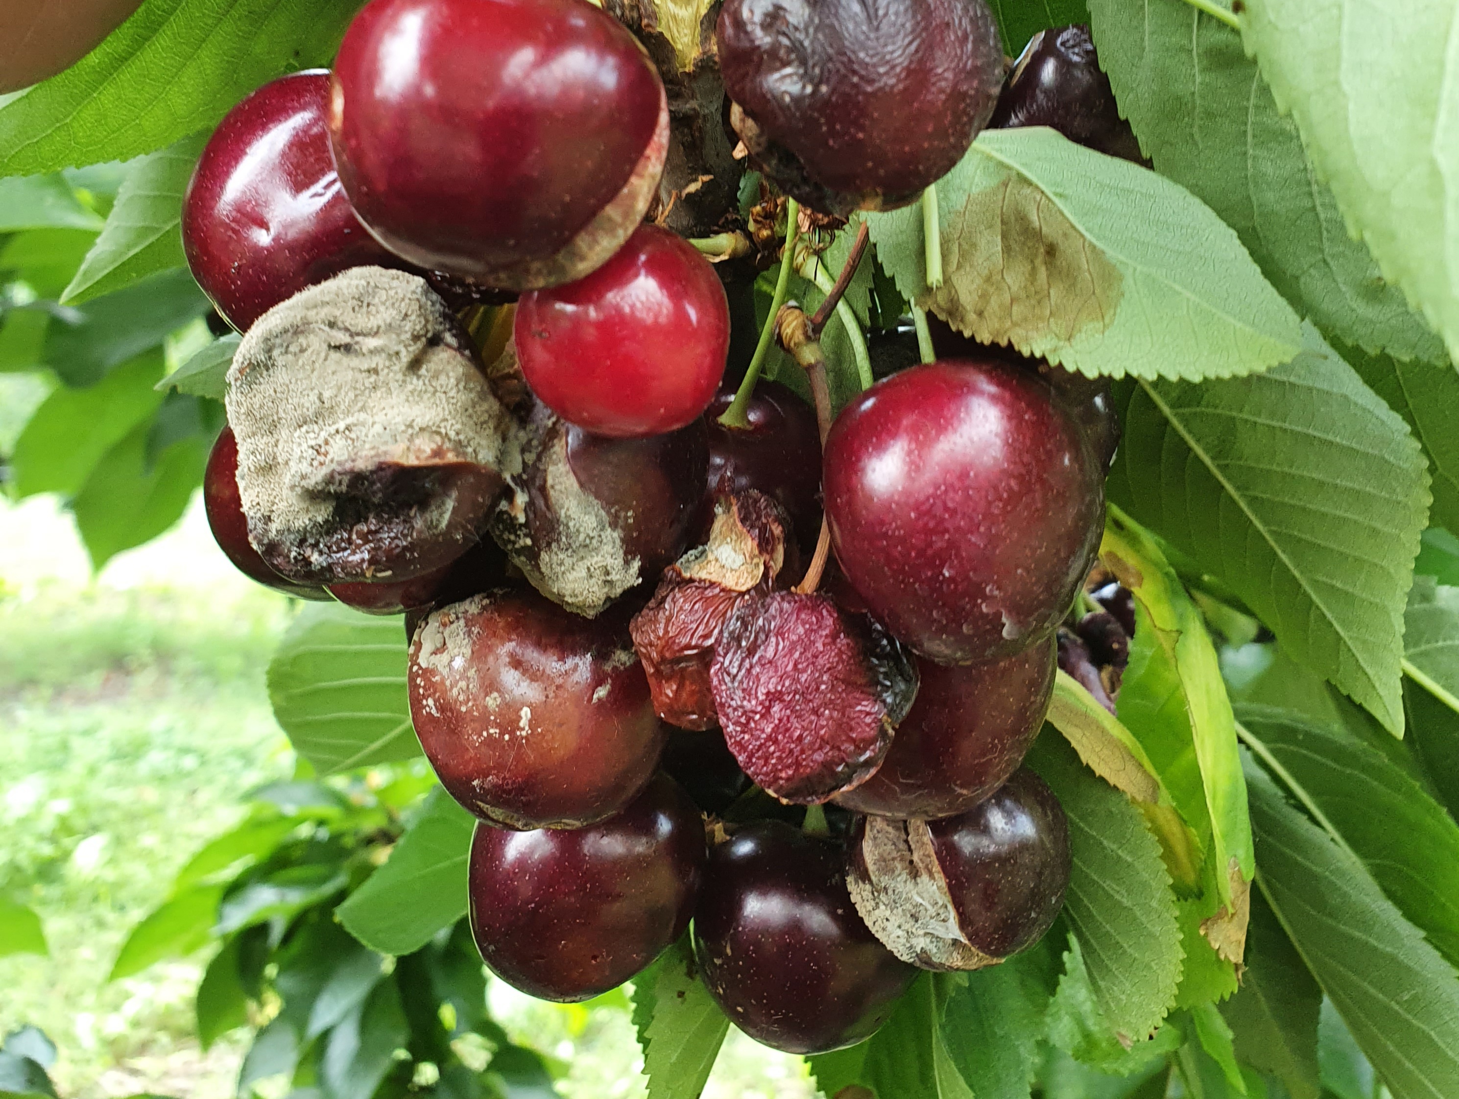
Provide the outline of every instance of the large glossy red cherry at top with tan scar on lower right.
{"type": "Polygon", "coordinates": [[[330,134],[385,247],[525,290],[581,279],[633,232],[668,102],[627,29],[582,0],[374,0],[334,63],[330,134]]]}

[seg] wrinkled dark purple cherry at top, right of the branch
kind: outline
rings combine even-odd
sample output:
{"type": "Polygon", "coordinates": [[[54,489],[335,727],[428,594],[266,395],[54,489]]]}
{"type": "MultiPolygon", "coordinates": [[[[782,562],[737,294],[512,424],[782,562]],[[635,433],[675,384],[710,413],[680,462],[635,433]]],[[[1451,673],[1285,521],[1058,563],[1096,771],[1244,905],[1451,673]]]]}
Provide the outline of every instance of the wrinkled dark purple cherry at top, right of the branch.
{"type": "Polygon", "coordinates": [[[728,0],[718,42],[751,161],[842,216],[903,206],[945,175],[1004,74],[983,0],[728,0]]]}

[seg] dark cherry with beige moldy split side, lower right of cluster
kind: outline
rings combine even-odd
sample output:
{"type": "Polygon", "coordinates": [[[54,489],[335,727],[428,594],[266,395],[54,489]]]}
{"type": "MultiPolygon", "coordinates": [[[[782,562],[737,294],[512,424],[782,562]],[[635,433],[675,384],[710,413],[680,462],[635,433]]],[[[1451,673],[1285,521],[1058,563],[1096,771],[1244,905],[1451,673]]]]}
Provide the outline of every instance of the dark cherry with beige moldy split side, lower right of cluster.
{"type": "Polygon", "coordinates": [[[1064,906],[1069,870],[1064,807],[1024,768],[961,816],[862,817],[846,884],[902,960],[979,969],[1043,937],[1064,906]]]}

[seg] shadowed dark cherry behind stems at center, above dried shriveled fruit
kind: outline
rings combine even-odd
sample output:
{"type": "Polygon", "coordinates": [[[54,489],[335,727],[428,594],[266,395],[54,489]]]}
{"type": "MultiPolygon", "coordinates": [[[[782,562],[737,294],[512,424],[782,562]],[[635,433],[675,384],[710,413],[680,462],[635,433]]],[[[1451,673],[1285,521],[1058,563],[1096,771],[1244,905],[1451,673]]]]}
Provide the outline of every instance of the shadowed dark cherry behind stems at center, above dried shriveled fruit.
{"type": "MultiPolygon", "coordinates": [[[[801,549],[810,552],[820,534],[820,428],[816,410],[794,390],[760,381],[746,407],[748,425],[719,422],[734,393],[715,396],[705,413],[709,425],[709,487],[697,525],[708,536],[715,496],[747,489],[772,496],[795,524],[801,549]]],[[[703,537],[700,537],[700,541],[703,537]]]]}

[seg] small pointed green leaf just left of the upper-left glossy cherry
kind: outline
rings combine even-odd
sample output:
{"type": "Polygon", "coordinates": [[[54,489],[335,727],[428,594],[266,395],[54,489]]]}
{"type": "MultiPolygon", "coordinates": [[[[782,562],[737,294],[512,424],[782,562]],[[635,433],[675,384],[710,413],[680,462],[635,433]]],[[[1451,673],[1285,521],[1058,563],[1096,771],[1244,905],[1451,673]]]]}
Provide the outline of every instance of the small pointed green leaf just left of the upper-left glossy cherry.
{"type": "Polygon", "coordinates": [[[206,134],[184,137],[131,165],[107,226],[61,293],[63,305],[90,301],[187,263],[182,194],[204,142],[206,134]]]}

